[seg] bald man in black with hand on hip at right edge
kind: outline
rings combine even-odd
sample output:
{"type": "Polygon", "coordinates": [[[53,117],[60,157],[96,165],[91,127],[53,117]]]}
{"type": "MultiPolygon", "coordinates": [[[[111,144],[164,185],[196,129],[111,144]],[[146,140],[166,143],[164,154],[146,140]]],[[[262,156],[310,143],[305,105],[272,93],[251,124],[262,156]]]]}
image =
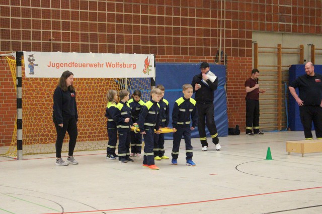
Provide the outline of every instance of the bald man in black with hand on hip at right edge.
{"type": "Polygon", "coordinates": [[[313,139],[312,121],[316,139],[322,139],[322,75],[314,73],[311,62],[305,64],[305,73],[291,82],[288,88],[299,105],[305,139],[313,139]],[[299,96],[295,88],[299,89],[299,96]]]}

